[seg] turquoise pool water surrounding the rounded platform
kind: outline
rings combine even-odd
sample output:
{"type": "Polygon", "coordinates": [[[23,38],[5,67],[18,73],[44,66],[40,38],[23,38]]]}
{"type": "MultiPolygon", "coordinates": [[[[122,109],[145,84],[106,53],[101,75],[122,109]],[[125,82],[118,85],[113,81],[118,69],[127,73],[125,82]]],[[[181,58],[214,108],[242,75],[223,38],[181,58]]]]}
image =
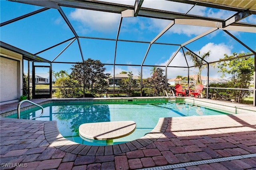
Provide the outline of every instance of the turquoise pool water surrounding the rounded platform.
{"type": "MultiPolygon", "coordinates": [[[[85,145],[115,145],[132,141],[154,129],[160,117],[198,116],[227,114],[202,106],[184,102],[132,103],[132,104],[92,104],[92,103],[52,103],[43,105],[44,115],[36,120],[57,121],[60,134],[70,141],[85,145]],[[83,140],[78,128],[83,123],[106,121],[135,121],[136,130],[111,143],[97,140],[83,140]]],[[[20,113],[21,119],[40,115],[41,110],[27,110],[20,113]]],[[[16,114],[9,116],[15,117],[16,114]]]]}

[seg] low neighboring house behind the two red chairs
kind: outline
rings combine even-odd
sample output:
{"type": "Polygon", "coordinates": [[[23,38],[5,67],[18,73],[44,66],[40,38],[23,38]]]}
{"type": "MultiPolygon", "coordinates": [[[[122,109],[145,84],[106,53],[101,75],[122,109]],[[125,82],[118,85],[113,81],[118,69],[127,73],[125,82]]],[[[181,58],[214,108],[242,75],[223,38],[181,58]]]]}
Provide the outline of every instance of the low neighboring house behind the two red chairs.
{"type": "MultiPolygon", "coordinates": [[[[193,78],[194,80],[189,80],[190,84],[196,84],[196,80],[197,80],[197,74],[192,74],[189,75],[190,78],[193,78]]],[[[201,80],[202,80],[202,84],[204,86],[207,86],[207,76],[201,76],[201,80]]],[[[209,84],[211,83],[223,83],[223,82],[227,82],[227,79],[224,78],[212,78],[209,77],[209,84]]],[[[181,81],[181,78],[171,78],[168,79],[168,83],[171,85],[175,85],[175,84],[186,84],[188,82],[188,80],[183,80],[181,81]]]]}

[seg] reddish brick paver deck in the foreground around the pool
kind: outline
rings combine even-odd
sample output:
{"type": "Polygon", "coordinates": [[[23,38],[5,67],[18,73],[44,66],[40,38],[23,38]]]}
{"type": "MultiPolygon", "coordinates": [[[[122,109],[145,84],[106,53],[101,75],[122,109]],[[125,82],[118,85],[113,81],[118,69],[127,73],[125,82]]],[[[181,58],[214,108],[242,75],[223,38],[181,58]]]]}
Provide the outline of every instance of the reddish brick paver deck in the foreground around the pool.
{"type": "MultiPolygon", "coordinates": [[[[253,113],[161,118],[141,139],[100,147],[64,139],[55,121],[0,117],[0,131],[1,170],[128,170],[256,153],[253,113]]],[[[176,169],[256,169],[256,157],[176,169]]]]}

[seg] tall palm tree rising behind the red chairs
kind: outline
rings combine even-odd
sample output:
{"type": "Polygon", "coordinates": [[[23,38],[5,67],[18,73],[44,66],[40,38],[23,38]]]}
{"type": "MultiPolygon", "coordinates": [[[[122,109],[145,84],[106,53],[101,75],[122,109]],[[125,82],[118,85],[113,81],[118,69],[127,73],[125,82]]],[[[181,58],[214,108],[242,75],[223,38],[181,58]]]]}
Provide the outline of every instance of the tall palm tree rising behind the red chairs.
{"type": "MultiPolygon", "coordinates": [[[[196,84],[202,84],[201,72],[204,68],[206,68],[207,65],[206,64],[201,65],[201,64],[204,64],[204,60],[206,60],[210,56],[210,53],[211,51],[209,50],[207,53],[204,53],[202,56],[200,56],[200,51],[199,51],[199,56],[201,57],[200,59],[198,56],[196,56],[194,53],[190,51],[185,52],[185,55],[190,57],[190,59],[194,63],[195,68],[198,68],[196,84]]],[[[215,66],[214,64],[211,64],[211,65],[215,66]]]]}

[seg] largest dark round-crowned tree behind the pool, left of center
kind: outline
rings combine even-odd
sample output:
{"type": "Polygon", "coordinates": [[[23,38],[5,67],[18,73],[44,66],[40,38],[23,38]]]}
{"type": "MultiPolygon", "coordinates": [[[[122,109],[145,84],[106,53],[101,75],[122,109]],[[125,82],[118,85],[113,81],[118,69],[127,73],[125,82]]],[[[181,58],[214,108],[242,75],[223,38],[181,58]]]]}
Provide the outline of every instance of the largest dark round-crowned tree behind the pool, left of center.
{"type": "MultiPolygon", "coordinates": [[[[78,80],[80,85],[84,85],[86,90],[93,90],[93,87],[104,87],[107,86],[105,81],[110,74],[104,73],[106,68],[99,60],[87,59],[84,61],[85,68],[83,64],[72,65],[72,72],[70,74],[73,80],[78,80]]],[[[97,88],[101,89],[102,88],[97,88]]],[[[97,91],[97,89],[94,89],[97,91]]]]}

